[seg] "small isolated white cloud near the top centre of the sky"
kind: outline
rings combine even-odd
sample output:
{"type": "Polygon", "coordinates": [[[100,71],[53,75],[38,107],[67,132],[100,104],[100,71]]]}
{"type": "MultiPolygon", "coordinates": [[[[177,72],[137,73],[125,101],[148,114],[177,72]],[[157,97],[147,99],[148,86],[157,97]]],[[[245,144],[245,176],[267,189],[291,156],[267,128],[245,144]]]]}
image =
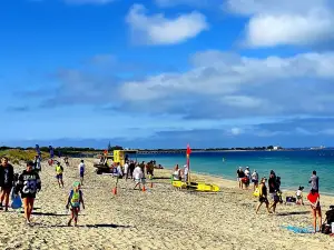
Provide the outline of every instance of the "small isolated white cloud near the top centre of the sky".
{"type": "Polygon", "coordinates": [[[131,7],[126,21],[136,41],[146,44],[175,44],[195,38],[208,29],[205,16],[199,12],[193,11],[168,19],[161,13],[148,16],[141,4],[131,7]]]}

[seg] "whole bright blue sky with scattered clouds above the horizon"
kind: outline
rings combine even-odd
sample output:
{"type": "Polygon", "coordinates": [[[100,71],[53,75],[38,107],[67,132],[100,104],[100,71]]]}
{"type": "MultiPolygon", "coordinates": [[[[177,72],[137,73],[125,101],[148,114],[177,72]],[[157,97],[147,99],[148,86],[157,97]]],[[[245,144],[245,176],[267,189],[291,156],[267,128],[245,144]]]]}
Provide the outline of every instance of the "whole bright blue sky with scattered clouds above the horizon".
{"type": "Polygon", "coordinates": [[[333,146],[330,0],[2,0],[0,143],[333,146]]]}

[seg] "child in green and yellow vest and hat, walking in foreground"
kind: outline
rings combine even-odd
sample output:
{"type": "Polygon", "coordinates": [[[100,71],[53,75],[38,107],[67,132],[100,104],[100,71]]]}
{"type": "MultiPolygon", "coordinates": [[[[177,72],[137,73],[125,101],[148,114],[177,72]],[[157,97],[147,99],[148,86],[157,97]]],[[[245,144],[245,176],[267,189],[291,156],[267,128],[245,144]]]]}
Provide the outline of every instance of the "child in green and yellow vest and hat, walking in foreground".
{"type": "Polygon", "coordinates": [[[71,210],[71,218],[67,223],[68,227],[71,226],[72,220],[75,220],[75,227],[77,227],[78,217],[79,217],[79,212],[80,212],[80,204],[82,204],[82,209],[85,209],[82,191],[80,190],[80,182],[76,181],[73,183],[72,190],[70,191],[70,193],[68,196],[67,204],[66,204],[66,209],[71,210]]]}

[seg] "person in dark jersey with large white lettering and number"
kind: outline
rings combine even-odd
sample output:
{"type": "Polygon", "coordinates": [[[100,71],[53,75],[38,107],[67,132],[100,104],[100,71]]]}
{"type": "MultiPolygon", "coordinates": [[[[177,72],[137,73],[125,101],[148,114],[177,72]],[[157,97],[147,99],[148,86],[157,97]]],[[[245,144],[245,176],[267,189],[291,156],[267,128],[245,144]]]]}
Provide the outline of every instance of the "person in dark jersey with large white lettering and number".
{"type": "Polygon", "coordinates": [[[36,193],[41,190],[41,181],[38,172],[33,171],[33,162],[27,162],[27,170],[19,176],[19,180],[14,188],[14,194],[21,193],[24,207],[24,218],[27,224],[30,224],[30,217],[33,210],[36,193]]]}

